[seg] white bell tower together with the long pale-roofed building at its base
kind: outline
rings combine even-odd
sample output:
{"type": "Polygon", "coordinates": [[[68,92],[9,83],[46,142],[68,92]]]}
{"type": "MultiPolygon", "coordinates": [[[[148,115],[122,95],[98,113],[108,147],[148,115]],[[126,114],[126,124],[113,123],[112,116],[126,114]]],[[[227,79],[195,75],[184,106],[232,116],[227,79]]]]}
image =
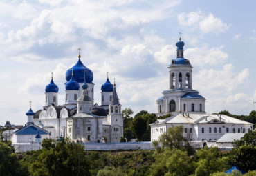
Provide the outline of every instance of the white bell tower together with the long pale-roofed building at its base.
{"type": "Polygon", "coordinates": [[[183,135],[190,141],[217,141],[226,133],[247,133],[253,124],[227,115],[205,113],[205,98],[192,88],[192,65],[183,57],[184,42],[176,43],[177,57],[172,59],[168,89],[156,100],[157,115],[171,113],[172,117],[158,119],[151,126],[151,141],[158,140],[168,128],[183,126],[183,135]]]}

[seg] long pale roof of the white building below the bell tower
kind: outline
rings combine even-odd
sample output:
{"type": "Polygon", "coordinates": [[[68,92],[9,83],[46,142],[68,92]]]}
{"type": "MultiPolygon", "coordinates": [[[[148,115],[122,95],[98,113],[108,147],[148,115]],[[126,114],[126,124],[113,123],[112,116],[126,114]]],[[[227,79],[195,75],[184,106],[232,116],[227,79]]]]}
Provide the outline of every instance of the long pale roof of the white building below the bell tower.
{"type": "Polygon", "coordinates": [[[157,120],[154,124],[251,124],[228,115],[178,114],[166,119],[157,120]]]}

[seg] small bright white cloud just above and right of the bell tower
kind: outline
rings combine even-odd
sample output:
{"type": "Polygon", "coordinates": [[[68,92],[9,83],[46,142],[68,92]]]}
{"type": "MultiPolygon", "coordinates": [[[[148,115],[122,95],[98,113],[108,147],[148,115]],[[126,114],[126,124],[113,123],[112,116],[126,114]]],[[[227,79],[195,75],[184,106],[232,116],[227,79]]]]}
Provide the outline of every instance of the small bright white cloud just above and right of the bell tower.
{"type": "Polygon", "coordinates": [[[178,15],[178,21],[181,26],[199,28],[203,33],[214,32],[215,34],[219,34],[226,32],[230,27],[230,25],[223,23],[221,19],[214,17],[213,14],[205,15],[200,10],[188,14],[181,13],[178,15]]]}

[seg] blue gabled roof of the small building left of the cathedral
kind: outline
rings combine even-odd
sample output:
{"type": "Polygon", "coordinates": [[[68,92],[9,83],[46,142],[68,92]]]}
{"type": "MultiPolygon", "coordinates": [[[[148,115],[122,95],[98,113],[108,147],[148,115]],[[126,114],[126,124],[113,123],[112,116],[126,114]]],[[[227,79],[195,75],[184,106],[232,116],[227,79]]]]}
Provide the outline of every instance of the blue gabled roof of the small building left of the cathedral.
{"type": "Polygon", "coordinates": [[[46,130],[43,130],[42,128],[39,128],[38,126],[35,126],[33,124],[30,124],[29,126],[24,126],[24,128],[17,130],[15,133],[16,133],[16,135],[36,135],[37,132],[40,135],[48,134],[48,132],[46,132],[46,130]]]}

